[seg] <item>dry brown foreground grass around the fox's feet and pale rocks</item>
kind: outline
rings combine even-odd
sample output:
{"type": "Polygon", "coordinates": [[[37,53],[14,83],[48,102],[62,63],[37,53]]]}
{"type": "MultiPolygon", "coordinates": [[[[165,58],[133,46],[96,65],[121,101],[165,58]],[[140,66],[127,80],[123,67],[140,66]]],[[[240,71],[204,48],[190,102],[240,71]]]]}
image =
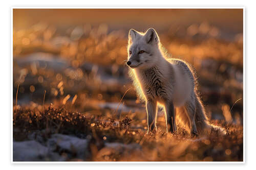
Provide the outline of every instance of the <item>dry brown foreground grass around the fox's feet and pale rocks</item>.
{"type": "MultiPolygon", "coordinates": [[[[45,111],[35,110],[37,108],[23,108],[14,113],[14,140],[28,140],[28,135],[36,130],[41,132],[45,142],[54,133],[90,138],[90,157],[83,161],[243,160],[243,127],[220,120],[211,124],[224,127],[227,131],[225,135],[221,130],[212,128],[208,135],[190,138],[182,130],[175,135],[162,130],[145,135],[146,121],[139,118],[139,113],[123,115],[119,121],[117,117],[104,114],[71,112],[51,106],[45,111]],[[48,125],[47,118],[50,120],[48,125]],[[109,148],[105,144],[113,142],[119,143],[117,148],[109,148]],[[127,147],[120,147],[122,143],[127,147]]],[[[163,125],[162,122],[160,126],[163,125]]],[[[59,154],[63,155],[62,152],[59,154]]],[[[73,155],[68,160],[75,158],[73,155]]]]}

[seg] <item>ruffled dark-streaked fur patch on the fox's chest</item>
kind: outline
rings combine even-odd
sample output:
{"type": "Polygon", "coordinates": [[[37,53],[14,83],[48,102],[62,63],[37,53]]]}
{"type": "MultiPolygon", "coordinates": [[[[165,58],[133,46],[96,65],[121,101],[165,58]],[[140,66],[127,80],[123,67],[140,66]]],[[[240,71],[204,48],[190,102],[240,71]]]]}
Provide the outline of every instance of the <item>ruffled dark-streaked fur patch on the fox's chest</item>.
{"type": "Polygon", "coordinates": [[[146,98],[163,99],[167,96],[167,88],[160,71],[149,69],[142,73],[141,87],[146,98]]]}

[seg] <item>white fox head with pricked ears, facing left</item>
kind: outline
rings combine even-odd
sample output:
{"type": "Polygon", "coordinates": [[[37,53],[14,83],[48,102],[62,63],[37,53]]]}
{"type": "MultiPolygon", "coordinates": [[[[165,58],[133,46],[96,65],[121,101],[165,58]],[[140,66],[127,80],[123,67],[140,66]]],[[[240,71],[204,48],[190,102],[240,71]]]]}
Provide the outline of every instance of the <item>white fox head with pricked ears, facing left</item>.
{"type": "Polygon", "coordinates": [[[127,47],[127,65],[131,68],[150,68],[158,62],[159,37],[153,28],[145,33],[131,29],[129,31],[129,42],[127,47]]]}

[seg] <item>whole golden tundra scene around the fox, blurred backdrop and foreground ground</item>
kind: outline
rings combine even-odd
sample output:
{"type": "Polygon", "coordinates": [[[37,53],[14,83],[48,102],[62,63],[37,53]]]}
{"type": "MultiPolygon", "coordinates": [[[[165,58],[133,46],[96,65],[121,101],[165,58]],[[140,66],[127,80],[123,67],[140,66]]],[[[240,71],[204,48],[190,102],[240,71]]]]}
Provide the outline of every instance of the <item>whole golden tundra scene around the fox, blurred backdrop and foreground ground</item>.
{"type": "Polygon", "coordinates": [[[13,9],[13,160],[242,161],[243,9],[13,9]],[[221,129],[165,135],[159,109],[145,135],[125,60],[129,30],[148,28],[195,67],[221,129]]]}

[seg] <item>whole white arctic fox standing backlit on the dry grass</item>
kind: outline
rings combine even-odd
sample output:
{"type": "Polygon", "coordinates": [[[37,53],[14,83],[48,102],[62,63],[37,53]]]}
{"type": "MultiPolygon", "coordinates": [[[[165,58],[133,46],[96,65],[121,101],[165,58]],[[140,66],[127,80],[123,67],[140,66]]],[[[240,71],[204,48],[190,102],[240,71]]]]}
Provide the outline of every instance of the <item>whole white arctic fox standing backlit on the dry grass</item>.
{"type": "Polygon", "coordinates": [[[177,116],[188,124],[192,136],[210,128],[194,71],[185,61],[164,57],[153,28],[146,33],[131,29],[127,52],[130,76],[146,103],[147,133],[156,129],[157,104],[164,106],[167,132],[177,132],[177,116]]]}

